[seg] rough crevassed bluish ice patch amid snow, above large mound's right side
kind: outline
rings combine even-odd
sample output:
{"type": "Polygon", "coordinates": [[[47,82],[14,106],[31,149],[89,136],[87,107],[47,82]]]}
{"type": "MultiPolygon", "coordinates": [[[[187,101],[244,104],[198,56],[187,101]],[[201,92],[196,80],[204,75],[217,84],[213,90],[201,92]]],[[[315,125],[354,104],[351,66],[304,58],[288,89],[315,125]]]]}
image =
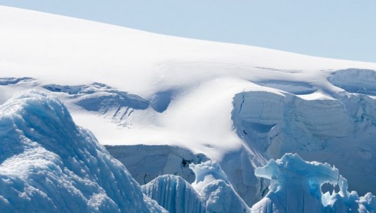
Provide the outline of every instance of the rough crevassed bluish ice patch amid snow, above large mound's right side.
{"type": "MultiPolygon", "coordinates": [[[[146,99],[101,83],[77,86],[45,85],[43,87],[50,91],[66,93],[68,98],[73,99],[75,105],[110,117],[121,126],[130,124],[133,110],[146,110],[149,107],[149,101],[146,99]]],[[[160,105],[162,106],[158,109],[167,108],[163,103],[160,105]]]]}

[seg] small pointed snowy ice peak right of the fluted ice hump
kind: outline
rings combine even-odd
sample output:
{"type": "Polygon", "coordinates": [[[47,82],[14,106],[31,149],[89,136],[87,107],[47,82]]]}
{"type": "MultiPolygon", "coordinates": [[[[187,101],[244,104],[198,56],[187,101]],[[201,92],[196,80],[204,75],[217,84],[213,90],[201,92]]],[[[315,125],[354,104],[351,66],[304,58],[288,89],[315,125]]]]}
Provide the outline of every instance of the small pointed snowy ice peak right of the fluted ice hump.
{"type": "Polygon", "coordinates": [[[235,192],[219,163],[206,161],[190,164],[196,179],[192,186],[202,196],[208,213],[250,212],[249,207],[235,192]]]}

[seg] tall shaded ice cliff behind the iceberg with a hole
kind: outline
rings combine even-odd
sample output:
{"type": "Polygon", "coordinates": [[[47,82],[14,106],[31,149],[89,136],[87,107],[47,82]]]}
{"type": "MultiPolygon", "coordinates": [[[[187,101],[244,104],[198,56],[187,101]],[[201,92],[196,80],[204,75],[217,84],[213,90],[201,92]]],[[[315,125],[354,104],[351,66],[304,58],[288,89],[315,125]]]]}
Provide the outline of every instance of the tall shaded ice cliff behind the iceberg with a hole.
{"type": "Polygon", "coordinates": [[[376,100],[347,92],[331,96],[306,99],[245,91],[234,97],[232,119],[239,136],[266,159],[296,152],[310,161],[336,165],[349,179],[349,189],[375,191],[376,169],[369,162],[376,156],[376,100]]]}

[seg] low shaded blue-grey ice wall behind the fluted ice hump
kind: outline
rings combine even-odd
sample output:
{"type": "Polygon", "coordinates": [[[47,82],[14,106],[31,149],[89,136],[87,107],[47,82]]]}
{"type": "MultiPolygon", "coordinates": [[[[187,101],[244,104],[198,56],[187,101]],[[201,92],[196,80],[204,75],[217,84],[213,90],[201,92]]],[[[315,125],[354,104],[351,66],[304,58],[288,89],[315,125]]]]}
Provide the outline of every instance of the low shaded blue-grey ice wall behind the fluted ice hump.
{"type": "Polygon", "coordinates": [[[105,146],[115,159],[123,163],[139,184],[147,184],[160,175],[179,175],[187,182],[195,181],[190,163],[209,159],[204,154],[193,154],[182,147],[167,145],[105,146]]]}

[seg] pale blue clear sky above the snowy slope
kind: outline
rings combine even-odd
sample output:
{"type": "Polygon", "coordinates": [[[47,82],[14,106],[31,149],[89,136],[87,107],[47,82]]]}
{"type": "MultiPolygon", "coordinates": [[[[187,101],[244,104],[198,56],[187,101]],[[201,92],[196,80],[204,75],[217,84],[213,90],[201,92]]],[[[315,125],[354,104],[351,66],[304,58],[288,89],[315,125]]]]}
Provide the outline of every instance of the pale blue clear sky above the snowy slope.
{"type": "Polygon", "coordinates": [[[158,34],[376,62],[375,0],[0,0],[0,5],[158,34]]]}

